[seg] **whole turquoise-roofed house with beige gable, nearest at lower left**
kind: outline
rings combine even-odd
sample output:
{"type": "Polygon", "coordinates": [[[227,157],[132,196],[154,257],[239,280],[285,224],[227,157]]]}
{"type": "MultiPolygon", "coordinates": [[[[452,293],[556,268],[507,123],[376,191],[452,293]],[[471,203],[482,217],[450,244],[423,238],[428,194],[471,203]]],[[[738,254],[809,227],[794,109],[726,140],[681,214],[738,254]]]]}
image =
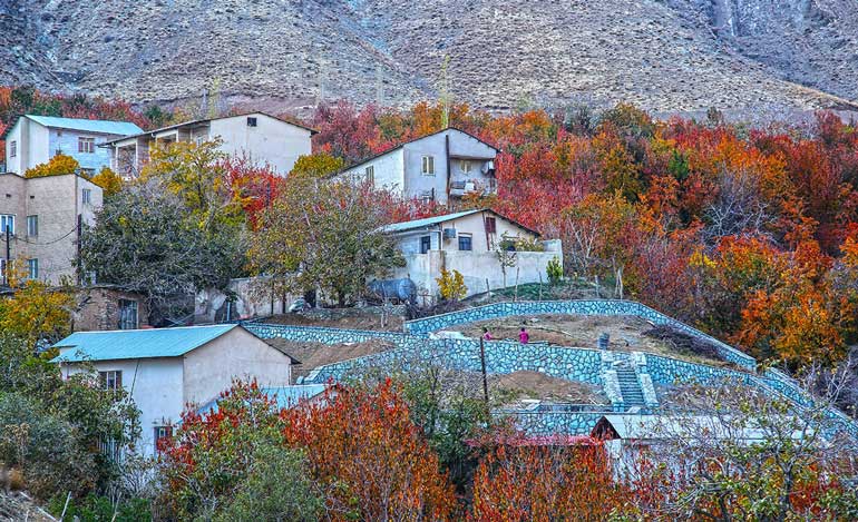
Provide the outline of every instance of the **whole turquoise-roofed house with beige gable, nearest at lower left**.
{"type": "Polygon", "coordinates": [[[136,450],[154,455],[170,436],[186,404],[206,404],[233,378],[289,386],[293,360],[240,325],[78,332],[53,347],[64,378],[98,372],[100,385],[126,390],[140,411],[136,450]]]}

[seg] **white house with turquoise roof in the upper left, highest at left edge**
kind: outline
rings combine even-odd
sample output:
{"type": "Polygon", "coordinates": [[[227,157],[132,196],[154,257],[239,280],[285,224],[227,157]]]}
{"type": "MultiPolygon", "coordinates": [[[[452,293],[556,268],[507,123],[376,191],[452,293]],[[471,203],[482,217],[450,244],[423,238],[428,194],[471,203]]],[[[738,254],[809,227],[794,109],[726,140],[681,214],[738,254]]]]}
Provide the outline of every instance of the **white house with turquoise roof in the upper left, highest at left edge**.
{"type": "Polygon", "coordinates": [[[142,131],[127,121],[25,115],[0,139],[6,140],[8,173],[23,176],[27,169],[64,154],[75,158],[84,173],[92,175],[110,165],[110,155],[100,145],[142,131]]]}

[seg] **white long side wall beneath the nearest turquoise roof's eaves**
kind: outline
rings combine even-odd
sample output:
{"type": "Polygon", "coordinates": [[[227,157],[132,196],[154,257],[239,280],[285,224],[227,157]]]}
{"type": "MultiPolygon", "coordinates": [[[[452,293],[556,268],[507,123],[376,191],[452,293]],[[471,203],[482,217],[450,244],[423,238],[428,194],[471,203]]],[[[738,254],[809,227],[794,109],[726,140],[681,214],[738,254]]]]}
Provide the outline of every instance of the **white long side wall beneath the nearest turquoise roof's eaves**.
{"type": "MultiPolygon", "coordinates": [[[[67,348],[70,349],[70,348],[67,348]]],[[[98,372],[123,372],[123,387],[140,411],[140,441],[136,449],[145,455],[155,454],[154,429],[177,425],[185,407],[182,394],[183,366],[181,357],[98,361],[98,372]]],[[[79,365],[61,365],[64,377],[82,372],[79,365]]]]}

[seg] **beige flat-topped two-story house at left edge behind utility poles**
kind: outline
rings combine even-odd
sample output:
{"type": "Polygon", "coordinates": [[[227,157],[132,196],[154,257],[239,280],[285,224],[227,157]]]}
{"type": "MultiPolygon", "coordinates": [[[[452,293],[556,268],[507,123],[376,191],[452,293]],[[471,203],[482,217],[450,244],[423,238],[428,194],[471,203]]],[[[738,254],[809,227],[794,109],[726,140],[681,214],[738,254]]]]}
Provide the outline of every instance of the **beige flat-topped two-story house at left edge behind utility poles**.
{"type": "Polygon", "coordinates": [[[30,279],[59,284],[67,278],[75,283],[81,227],[95,223],[101,200],[101,187],[77,174],[39,178],[0,175],[3,283],[11,262],[30,279]]]}

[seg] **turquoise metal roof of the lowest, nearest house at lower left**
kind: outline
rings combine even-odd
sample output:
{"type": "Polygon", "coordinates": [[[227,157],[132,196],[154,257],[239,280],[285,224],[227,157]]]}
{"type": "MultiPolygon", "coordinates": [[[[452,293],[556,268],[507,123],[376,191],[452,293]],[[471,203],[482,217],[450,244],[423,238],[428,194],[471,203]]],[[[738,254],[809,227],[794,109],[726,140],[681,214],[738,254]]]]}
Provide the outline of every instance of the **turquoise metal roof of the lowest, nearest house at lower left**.
{"type": "Polygon", "coordinates": [[[178,328],[76,332],[52,347],[71,348],[53,363],[126,358],[178,357],[238,325],[184,326],[178,328]]]}

